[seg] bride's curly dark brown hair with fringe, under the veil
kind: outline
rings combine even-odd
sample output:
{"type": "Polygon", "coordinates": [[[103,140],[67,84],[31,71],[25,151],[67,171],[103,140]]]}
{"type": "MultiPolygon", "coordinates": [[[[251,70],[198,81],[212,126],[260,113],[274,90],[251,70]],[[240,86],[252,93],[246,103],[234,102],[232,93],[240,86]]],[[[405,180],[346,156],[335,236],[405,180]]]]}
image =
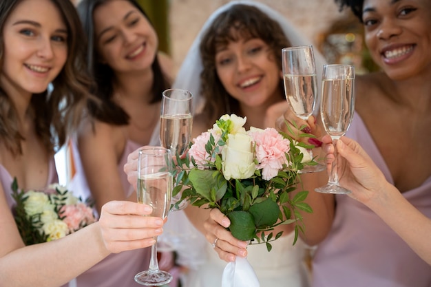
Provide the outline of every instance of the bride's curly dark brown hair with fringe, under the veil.
{"type": "MultiPolygon", "coordinates": [[[[222,114],[240,114],[238,100],[224,89],[215,71],[215,54],[218,45],[243,38],[262,39],[269,45],[280,71],[282,70],[281,50],[291,46],[277,21],[254,6],[233,5],[215,18],[200,42],[200,56],[204,67],[200,74],[202,81],[200,89],[205,99],[202,112],[207,115],[208,123],[213,123],[222,114]]],[[[281,78],[279,89],[284,98],[281,78]]]]}

